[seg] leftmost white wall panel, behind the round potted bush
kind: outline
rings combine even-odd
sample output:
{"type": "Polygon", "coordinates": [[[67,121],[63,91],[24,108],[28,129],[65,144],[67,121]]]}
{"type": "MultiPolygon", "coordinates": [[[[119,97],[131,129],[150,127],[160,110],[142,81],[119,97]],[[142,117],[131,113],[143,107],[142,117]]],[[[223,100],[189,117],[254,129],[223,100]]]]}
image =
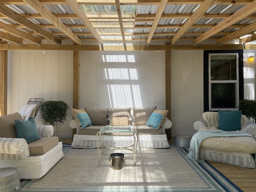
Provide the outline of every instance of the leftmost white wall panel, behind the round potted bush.
{"type": "MultiPolygon", "coordinates": [[[[13,50],[8,52],[7,113],[19,112],[29,98],[73,101],[73,51],[13,50]]],[[[67,123],[61,134],[71,136],[67,123]]],[[[37,124],[42,124],[40,113],[37,124]]]]}

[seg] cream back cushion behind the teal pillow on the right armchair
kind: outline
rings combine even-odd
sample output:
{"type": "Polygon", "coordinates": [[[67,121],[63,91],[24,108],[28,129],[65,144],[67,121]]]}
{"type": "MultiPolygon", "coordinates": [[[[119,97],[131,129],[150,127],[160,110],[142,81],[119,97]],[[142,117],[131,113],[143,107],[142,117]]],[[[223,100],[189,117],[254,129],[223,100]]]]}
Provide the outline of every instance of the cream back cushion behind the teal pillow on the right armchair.
{"type": "MultiPolygon", "coordinates": [[[[218,112],[204,112],[202,114],[203,120],[206,122],[209,128],[216,128],[219,126],[219,115],[218,112]]],[[[241,127],[248,123],[248,118],[245,115],[241,116],[241,127]]]]}

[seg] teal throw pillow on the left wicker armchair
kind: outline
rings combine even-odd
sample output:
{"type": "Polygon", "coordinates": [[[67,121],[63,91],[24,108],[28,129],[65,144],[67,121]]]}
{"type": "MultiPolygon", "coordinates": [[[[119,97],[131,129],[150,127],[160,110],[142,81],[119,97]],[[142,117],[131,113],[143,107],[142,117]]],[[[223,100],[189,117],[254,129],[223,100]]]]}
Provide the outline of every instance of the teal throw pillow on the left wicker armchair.
{"type": "Polygon", "coordinates": [[[15,119],[17,138],[24,138],[27,143],[34,142],[41,138],[36,128],[36,121],[30,117],[27,121],[15,119]]]}

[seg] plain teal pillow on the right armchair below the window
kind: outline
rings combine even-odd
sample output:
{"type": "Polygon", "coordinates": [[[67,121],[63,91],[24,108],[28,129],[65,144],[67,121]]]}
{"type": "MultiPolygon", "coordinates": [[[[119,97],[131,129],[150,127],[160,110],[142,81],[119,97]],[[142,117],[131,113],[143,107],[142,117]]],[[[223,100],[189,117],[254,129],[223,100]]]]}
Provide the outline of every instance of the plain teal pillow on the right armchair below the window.
{"type": "Polygon", "coordinates": [[[241,115],[242,110],[239,111],[222,111],[218,110],[219,126],[217,129],[223,131],[241,130],[241,115]]]}

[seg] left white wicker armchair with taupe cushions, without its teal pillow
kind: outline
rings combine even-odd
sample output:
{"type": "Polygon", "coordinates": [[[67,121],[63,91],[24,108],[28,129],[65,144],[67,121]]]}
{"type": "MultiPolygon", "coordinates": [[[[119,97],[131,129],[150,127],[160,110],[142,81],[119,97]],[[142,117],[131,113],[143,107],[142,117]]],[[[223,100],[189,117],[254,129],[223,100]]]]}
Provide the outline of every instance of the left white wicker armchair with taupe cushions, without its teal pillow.
{"type": "Polygon", "coordinates": [[[0,117],[0,168],[14,167],[20,179],[39,180],[63,157],[62,142],[51,137],[51,125],[36,127],[36,141],[17,138],[15,120],[23,121],[18,112],[0,117]]]}

